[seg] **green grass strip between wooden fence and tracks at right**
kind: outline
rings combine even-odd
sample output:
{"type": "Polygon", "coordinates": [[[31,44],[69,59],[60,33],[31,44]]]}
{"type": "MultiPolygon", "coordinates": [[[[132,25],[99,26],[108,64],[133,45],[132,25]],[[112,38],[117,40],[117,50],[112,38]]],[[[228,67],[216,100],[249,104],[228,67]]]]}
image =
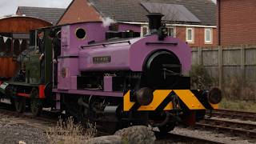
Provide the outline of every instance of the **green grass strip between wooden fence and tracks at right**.
{"type": "Polygon", "coordinates": [[[219,109],[241,110],[256,113],[256,104],[253,101],[230,100],[227,98],[223,98],[222,102],[219,105],[219,109]]]}

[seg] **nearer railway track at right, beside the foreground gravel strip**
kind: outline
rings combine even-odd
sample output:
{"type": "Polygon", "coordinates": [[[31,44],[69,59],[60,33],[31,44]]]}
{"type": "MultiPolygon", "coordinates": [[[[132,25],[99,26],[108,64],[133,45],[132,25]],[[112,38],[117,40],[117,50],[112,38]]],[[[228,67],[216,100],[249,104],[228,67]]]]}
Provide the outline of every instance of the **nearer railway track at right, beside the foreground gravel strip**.
{"type": "Polygon", "coordinates": [[[196,123],[195,129],[217,131],[218,133],[230,134],[235,137],[256,140],[256,124],[246,122],[232,122],[221,119],[204,119],[196,123]]]}

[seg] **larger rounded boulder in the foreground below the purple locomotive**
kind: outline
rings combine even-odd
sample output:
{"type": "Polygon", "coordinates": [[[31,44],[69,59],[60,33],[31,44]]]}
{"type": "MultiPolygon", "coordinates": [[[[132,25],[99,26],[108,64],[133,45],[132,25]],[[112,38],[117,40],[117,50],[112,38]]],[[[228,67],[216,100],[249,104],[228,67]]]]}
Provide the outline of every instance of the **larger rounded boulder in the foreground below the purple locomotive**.
{"type": "Polygon", "coordinates": [[[131,126],[122,130],[118,130],[114,135],[122,137],[124,143],[138,144],[154,144],[154,132],[146,126],[131,126]]]}

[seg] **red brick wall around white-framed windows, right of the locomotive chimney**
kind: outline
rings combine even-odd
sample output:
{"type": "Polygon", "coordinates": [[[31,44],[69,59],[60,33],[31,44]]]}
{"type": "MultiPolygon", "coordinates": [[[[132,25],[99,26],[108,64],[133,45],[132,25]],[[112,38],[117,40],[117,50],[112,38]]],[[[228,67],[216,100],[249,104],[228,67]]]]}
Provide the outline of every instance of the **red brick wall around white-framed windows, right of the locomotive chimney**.
{"type": "MultiPolygon", "coordinates": [[[[194,29],[194,42],[189,43],[191,47],[212,47],[218,45],[218,34],[216,28],[212,29],[212,43],[206,44],[205,42],[205,28],[204,27],[191,27],[194,29]]],[[[177,26],[176,27],[176,38],[181,39],[186,42],[186,27],[185,26],[177,26]]]]}

